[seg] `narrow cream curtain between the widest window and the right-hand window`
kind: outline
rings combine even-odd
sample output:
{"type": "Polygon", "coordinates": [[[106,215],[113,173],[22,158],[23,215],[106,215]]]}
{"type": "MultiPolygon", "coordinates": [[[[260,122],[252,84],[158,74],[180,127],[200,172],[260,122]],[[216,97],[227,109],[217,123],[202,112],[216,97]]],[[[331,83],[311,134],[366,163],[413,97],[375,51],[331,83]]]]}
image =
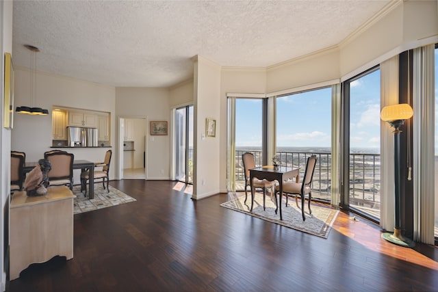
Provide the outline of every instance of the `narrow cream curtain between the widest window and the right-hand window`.
{"type": "Polygon", "coordinates": [[[341,168],[341,84],[331,87],[331,204],[339,206],[341,194],[340,168],[341,168]]]}

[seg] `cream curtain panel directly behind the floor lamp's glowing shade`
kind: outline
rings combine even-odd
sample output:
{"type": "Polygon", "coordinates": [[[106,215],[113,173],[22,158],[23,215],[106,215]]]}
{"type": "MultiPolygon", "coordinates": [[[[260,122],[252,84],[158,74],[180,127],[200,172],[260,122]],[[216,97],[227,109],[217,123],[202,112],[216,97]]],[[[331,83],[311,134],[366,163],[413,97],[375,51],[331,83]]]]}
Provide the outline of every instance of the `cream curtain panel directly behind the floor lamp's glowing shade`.
{"type": "MultiPolygon", "coordinates": [[[[398,55],[380,64],[381,109],[398,104],[398,55]]],[[[381,227],[394,230],[394,133],[387,122],[381,121],[381,227]]]]}

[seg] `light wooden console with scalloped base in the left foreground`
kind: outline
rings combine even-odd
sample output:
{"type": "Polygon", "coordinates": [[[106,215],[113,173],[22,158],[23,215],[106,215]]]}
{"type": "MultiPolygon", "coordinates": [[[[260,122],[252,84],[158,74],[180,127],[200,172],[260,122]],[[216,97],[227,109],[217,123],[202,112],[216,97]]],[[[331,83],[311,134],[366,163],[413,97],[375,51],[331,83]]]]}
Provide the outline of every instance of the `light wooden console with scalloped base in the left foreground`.
{"type": "Polygon", "coordinates": [[[73,258],[73,195],[68,187],[49,187],[45,196],[16,191],[10,204],[10,280],[31,263],[53,256],[73,258]]]}

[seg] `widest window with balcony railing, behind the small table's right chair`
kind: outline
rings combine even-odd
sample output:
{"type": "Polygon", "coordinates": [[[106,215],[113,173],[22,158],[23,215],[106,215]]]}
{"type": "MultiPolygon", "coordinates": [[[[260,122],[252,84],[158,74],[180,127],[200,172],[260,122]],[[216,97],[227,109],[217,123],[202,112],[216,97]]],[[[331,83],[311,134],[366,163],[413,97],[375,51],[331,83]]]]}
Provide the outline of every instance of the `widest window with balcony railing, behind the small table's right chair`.
{"type": "Polygon", "coordinates": [[[299,166],[306,159],[318,161],[312,181],[312,197],[330,200],[331,193],[331,88],[276,98],[276,155],[283,165],[299,166]]]}

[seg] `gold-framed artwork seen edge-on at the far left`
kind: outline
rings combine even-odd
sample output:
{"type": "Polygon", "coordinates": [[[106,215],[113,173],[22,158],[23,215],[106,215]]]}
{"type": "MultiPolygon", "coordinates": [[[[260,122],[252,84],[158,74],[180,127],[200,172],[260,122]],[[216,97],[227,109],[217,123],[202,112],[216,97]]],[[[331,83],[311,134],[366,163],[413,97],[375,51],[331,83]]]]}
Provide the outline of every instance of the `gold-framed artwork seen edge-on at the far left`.
{"type": "Polygon", "coordinates": [[[10,53],[5,53],[5,88],[3,127],[12,129],[14,122],[14,67],[10,53]]]}

